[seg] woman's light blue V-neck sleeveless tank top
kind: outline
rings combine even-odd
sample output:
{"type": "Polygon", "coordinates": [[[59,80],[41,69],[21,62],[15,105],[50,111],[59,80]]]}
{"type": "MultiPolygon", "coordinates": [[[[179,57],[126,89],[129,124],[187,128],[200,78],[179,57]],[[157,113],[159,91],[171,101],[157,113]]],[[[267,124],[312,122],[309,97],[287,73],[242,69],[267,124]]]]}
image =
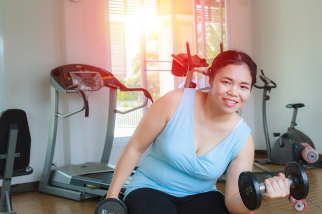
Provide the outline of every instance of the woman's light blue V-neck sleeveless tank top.
{"type": "Polygon", "coordinates": [[[153,188],[176,197],[217,190],[216,182],[251,129],[241,123],[216,147],[196,156],[193,142],[194,89],[184,89],[180,104],[151,145],[126,192],[153,188]]]}

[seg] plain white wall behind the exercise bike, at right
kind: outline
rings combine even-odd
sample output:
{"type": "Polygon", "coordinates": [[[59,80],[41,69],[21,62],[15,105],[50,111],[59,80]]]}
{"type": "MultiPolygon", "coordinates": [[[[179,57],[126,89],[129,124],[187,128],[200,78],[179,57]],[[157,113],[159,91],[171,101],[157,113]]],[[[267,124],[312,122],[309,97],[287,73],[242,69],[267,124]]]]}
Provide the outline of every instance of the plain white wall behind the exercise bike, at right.
{"type": "MultiPolygon", "coordinates": [[[[267,101],[267,121],[273,132],[285,132],[293,109],[290,103],[304,103],[298,109],[297,128],[322,151],[322,1],[252,1],[253,57],[259,70],[270,77],[277,88],[267,101]]],[[[260,81],[259,81],[260,82],[260,81]]],[[[255,94],[255,141],[264,147],[261,119],[262,90],[255,94]]]]}

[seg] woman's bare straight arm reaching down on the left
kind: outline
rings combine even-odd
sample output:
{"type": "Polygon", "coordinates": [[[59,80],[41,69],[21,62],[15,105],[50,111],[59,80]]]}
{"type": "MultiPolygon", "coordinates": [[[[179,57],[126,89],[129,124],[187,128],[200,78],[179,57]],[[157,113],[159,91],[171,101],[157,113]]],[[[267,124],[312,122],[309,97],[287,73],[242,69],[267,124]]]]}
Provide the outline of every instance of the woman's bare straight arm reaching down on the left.
{"type": "Polygon", "coordinates": [[[148,108],[119,158],[106,198],[118,198],[120,189],[129,178],[141,154],[164,129],[178,106],[182,94],[183,89],[173,90],[148,108]]]}

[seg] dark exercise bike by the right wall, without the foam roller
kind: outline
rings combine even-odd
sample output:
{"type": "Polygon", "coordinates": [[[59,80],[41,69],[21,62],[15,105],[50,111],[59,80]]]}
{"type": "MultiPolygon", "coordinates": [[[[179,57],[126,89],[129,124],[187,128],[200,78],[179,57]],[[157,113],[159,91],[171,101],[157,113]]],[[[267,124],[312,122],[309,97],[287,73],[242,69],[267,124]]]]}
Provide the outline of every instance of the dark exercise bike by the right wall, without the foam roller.
{"type": "Polygon", "coordinates": [[[313,149],[315,149],[313,142],[311,139],[300,130],[296,129],[296,115],[298,108],[304,107],[305,105],[302,103],[296,104],[288,104],[287,108],[293,108],[293,118],[291,121],[291,126],[288,128],[287,132],[282,134],[274,133],[274,137],[278,137],[271,149],[269,131],[267,128],[267,120],[266,120],[266,101],[270,100],[270,96],[267,95],[267,92],[270,92],[272,88],[276,88],[276,83],[270,80],[268,77],[264,75],[263,70],[261,70],[260,80],[264,82],[264,86],[254,85],[254,87],[263,90],[263,105],[262,105],[262,114],[263,114],[263,127],[264,127],[264,135],[266,141],[267,148],[267,160],[259,160],[258,163],[273,163],[285,165],[286,163],[292,161],[293,159],[293,144],[295,143],[307,143],[313,149]]]}

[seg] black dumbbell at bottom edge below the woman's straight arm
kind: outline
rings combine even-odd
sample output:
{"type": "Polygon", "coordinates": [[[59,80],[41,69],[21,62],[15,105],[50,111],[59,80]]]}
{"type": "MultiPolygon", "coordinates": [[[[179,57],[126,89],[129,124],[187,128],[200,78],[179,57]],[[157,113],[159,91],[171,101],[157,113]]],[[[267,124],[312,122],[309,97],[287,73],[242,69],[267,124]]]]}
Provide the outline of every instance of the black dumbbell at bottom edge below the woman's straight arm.
{"type": "Polygon", "coordinates": [[[128,209],[121,200],[106,199],[106,194],[104,194],[97,204],[94,214],[128,214],[128,209]]]}

